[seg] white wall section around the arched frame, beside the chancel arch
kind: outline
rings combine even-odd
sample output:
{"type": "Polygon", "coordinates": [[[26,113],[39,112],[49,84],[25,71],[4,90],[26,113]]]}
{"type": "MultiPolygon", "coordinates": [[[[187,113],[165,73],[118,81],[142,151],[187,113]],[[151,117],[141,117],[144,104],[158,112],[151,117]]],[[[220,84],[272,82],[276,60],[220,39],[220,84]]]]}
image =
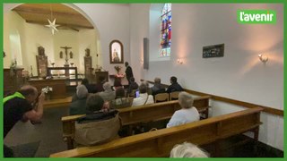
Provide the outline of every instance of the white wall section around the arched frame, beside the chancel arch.
{"type": "MultiPolygon", "coordinates": [[[[97,26],[100,36],[99,57],[102,60],[102,67],[115,74],[114,66],[109,64],[109,43],[117,39],[124,47],[124,61],[130,62],[130,11],[128,4],[74,4],[83,13],[90,17],[93,24],[97,26]]],[[[133,53],[136,55],[136,53],[133,53]]],[[[91,56],[92,55],[91,53],[91,56]]],[[[121,65],[122,72],[125,72],[125,65],[121,65]]]]}

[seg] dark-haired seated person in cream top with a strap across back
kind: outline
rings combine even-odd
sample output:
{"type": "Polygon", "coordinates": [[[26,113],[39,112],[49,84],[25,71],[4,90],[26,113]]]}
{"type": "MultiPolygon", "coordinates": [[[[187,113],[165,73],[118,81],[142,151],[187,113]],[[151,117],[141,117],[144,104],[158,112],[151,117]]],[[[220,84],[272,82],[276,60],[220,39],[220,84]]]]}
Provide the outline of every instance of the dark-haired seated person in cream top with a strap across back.
{"type": "Polygon", "coordinates": [[[135,97],[132,106],[143,106],[147,104],[153,104],[154,100],[152,95],[148,95],[147,88],[144,83],[142,83],[139,87],[140,96],[135,97]]]}

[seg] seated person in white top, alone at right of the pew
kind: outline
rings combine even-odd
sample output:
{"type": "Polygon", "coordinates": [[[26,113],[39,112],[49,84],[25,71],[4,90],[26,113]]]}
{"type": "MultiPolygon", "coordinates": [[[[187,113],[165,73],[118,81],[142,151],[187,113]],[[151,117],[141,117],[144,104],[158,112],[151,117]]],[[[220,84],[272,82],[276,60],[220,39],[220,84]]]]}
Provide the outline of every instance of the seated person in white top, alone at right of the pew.
{"type": "Polygon", "coordinates": [[[181,109],[172,115],[167,128],[199,120],[199,113],[196,107],[193,106],[194,98],[190,94],[180,92],[178,94],[178,104],[181,106],[181,109]]]}

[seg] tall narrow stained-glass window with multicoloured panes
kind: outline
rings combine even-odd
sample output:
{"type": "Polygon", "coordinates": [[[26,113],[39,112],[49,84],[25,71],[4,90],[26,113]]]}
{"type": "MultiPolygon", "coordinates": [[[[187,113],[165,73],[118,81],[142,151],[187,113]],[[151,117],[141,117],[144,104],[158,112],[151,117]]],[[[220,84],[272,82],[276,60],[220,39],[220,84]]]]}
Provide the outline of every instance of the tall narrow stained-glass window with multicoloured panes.
{"type": "Polygon", "coordinates": [[[171,46],[171,4],[164,4],[161,12],[161,54],[170,56],[171,46]]]}

